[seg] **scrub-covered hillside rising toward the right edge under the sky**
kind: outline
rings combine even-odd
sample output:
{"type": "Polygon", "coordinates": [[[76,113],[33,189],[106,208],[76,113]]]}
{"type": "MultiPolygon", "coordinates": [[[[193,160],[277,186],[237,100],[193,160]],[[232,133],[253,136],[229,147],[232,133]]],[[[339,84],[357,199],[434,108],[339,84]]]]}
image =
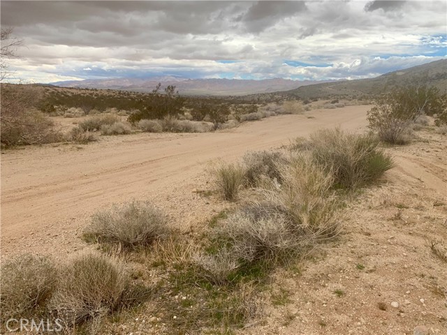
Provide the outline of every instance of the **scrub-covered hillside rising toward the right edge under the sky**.
{"type": "Polygon", "coordinates": [[[371,79],[342,80],[307,85],[283,93],[300,98],[327,98],[330,96],[356,98],[370,94],[379,94],[391,87],[416,83],[429,84],[437,87],[442,92],[447,92],[447,59],[393,71],[371,79]]]}

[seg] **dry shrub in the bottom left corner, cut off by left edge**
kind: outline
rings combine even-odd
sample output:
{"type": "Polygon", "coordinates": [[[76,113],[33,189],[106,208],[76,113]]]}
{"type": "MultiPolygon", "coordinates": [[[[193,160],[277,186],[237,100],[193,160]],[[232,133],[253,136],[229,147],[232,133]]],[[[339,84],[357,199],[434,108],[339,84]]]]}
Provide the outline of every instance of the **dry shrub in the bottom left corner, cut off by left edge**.
{"type": "Polygon", "coordinates": [[[53,262],[36,255],[19,255],[1,265],[1,318],[36,314],[51,297],[55,287],[53,262]]]}

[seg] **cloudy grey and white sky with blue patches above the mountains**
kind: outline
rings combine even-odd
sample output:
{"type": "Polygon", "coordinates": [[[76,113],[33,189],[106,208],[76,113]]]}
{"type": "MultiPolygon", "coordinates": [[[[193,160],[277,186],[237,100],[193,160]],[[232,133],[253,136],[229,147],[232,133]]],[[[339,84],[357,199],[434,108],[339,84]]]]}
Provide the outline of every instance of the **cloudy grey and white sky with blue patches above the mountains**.
{"type": "Polygon", "coordinates": [[[5,1],[16,80],[328,80],[446,57],[447,1],[5,1]]]}

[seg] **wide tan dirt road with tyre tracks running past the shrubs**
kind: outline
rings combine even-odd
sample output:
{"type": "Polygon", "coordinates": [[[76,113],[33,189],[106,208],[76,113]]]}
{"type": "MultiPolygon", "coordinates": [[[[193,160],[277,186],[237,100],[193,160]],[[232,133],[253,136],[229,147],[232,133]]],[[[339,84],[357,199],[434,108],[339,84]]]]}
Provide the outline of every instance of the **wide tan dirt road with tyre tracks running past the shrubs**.
{"type": "Polygon", "coordinates": [[[318,128],[364,128],[370,107],[270,117],[217,133],[142,133],[101,137],[100,142],[88,145],[3,151],[2,253],[29,250],[47,237],[74,231],[108,204],[156,199],[174,187],[191,190],[193,179],[217,158],[230,160],[247,150],[279,147],[318,128]],[[33,244],[29,244],[31,239],[33,244]]]}

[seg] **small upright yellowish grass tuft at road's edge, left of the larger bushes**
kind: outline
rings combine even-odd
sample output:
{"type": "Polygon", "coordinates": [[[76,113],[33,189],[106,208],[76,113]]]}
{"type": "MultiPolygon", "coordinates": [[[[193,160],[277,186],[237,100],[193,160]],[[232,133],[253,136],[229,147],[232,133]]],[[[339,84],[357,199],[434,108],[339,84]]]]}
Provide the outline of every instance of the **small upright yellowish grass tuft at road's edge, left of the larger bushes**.
{"type": "Polygon", "coordinates": [[[244,170],[240,163],[221,163],[212,168],[212,174],[214,184],[222,198],[229,201],[235,200],[244,179],[244,170]]]}

